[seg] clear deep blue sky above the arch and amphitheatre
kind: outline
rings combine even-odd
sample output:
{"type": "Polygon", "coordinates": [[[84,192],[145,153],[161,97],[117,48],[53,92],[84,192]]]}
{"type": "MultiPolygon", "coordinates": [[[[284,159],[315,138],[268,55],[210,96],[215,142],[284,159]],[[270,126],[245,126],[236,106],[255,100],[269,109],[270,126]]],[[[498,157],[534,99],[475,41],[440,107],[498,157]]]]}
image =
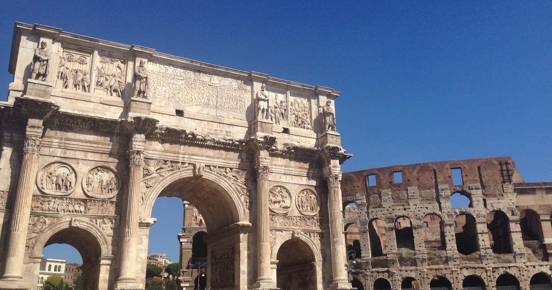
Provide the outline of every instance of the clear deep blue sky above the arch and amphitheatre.
{"type": "Polygon", "coordinates": [[[336,89],[343,171],[508,155],[552,181],[552,2],[343,3],[4,2],[0,92],[14,22],[40,23],[336,89]]]}

